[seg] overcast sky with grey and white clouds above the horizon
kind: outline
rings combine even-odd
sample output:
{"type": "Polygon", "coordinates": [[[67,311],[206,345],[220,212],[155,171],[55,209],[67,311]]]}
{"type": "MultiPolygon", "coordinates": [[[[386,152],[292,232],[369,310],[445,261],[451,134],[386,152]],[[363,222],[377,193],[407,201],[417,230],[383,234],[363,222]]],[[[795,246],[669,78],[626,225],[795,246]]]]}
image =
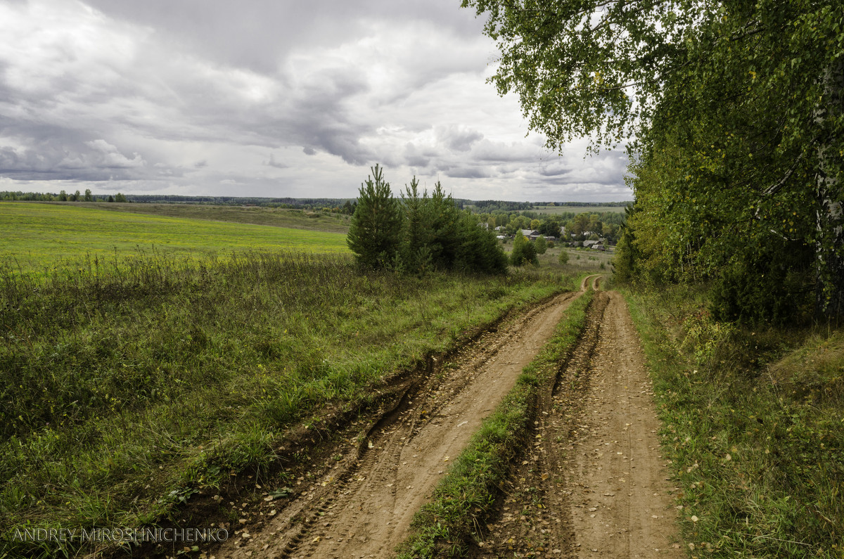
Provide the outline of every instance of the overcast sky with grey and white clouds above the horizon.
{"type": "Polygon", "coordinates": [[[459,4],[0,0],[0,190],[631,199],[620,151],[528,134],[459,4]]]}

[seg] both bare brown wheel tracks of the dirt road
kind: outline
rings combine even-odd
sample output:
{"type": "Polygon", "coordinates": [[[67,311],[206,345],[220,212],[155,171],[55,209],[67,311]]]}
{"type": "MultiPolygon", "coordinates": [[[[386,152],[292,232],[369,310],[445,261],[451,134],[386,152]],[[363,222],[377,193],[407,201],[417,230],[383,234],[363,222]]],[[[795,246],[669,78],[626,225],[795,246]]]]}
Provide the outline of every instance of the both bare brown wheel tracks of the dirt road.
{"type": "MultiPolygon", "coordinates": [[[[599,282],[584,279],[582,290],[599,282]]],[[[432,363],[392,410],[346,431],[330,464],[312,464],[284,504],[243,503],[245,524],[234,521],[233,537],[207,557],[395,556],[450,461],[579,295],[557,296],[432,363]]],[[[651,396],[623,298],[598,292],[574,355],[540,394],[533,443],[470,555],[681,556],[651,396]]]]}

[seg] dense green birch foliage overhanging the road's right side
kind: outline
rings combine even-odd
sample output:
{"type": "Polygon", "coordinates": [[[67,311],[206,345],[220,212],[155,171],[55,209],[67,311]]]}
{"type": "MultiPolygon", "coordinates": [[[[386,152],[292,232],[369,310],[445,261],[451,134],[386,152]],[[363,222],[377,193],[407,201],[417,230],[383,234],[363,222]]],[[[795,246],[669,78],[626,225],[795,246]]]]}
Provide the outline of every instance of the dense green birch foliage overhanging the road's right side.
{"type": "Polygon", "coordinates": [[[732,308],[726,314],[738,317],[750,310],[741,301],[767,298],[767,307],[781,309],[772,299],[806,298],[813,289],[816,311],[842,311],[840,4],[463,6],[488,15],[485,31],[501,50],[491,81],[520,96],[549,147],[585,135],[593,150],[633,138],[638,211],[619,249],[632,251],[624,255],[632,279],[717,279],[732,308]],[[740,274],[751,270],[761,284],[756,296],[728,296],[737,281],[757,281],[740,274]],[[787,292],[769,289],[784,277],[787,292]]]}

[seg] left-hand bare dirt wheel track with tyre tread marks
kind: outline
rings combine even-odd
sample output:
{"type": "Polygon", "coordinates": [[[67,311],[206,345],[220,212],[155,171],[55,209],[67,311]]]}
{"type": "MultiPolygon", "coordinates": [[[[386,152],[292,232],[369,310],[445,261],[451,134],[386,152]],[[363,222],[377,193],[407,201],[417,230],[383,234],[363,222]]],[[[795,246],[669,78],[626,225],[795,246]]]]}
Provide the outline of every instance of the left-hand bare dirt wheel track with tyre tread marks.
{"type": "MultiPolygon", "coordinates": [[[[410,520],[580,293],[564,293],[438,363],[425,384],[311,491],[219,550],[225,557],[392,557],[410,520]]],[[[354,446],[354,445],[353,445],[354,446]]],[[[311,483],[311,482],[309,482],[311,483]]]]}

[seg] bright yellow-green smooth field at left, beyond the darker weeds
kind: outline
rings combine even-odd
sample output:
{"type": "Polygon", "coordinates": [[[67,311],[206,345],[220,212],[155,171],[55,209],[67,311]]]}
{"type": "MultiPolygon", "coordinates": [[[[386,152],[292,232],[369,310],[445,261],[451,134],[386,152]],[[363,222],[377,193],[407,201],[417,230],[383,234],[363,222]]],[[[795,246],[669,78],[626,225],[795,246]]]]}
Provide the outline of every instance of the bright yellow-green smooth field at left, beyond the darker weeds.
{"type": "Polygon", "coordinates": [[[0,262],[41,271],[62,262],[78,262],[86,255],[117,252],[126,256],[138,249],[182,254],[277,249],[349,252],[343,233],[104,211],[91,205],[0,203],[0,262]]]}

